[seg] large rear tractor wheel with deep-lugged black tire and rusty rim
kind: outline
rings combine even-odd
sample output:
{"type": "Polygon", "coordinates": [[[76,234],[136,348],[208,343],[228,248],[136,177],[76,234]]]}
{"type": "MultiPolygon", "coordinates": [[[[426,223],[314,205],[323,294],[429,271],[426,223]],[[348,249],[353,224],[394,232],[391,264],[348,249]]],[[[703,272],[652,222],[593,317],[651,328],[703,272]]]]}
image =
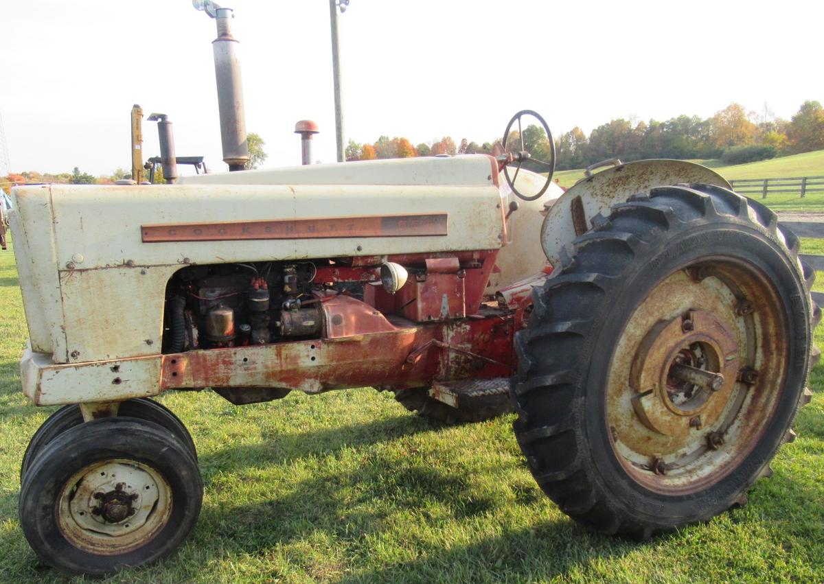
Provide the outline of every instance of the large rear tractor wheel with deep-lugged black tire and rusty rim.
{"type": "Polygon", "coordinates": [[[659,187],[593,225],[516,336],[514,428],[564,512],[646,538],[770,473],[821,312],[798,238],[732,191],[659,187]]]}

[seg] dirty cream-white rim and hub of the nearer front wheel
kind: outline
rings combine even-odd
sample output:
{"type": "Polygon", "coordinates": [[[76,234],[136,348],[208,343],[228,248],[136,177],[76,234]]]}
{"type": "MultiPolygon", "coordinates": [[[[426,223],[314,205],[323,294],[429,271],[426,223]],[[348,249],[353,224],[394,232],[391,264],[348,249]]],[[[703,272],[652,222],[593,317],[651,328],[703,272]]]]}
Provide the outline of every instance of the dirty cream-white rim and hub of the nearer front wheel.
{"type": "Polygon", "coordinates": [[[166,525],[171,488],[135,460],[106,460],[75,474],[59,501],[59,526],[79,549],[123,554],[136,549],[166,525]]]}

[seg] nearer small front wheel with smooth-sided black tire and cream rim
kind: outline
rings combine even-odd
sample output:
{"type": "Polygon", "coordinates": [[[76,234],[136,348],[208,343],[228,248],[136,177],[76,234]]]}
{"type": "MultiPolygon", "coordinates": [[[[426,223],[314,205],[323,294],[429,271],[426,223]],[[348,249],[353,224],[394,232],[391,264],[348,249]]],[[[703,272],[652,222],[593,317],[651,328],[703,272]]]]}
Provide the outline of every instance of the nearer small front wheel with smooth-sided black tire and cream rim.
{"type": "Polygon", "coordinates": [[[202,500],[198,466],[175,434],[102,418],[63,432],[32,461],[20,521],[44,562],[99,577],[171,554],[202,500]]]}

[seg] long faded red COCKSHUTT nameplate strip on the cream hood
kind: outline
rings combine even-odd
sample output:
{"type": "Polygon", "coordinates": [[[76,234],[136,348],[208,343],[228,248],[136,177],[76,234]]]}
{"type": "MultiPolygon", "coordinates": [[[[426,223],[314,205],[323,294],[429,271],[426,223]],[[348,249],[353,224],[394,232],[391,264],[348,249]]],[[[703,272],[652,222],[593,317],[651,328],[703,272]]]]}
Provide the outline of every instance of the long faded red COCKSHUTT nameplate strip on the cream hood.
{"type": "Polygon", "coordinates": [[[144,243],[446,236],[447,213],[143,225],[144,243]]]}

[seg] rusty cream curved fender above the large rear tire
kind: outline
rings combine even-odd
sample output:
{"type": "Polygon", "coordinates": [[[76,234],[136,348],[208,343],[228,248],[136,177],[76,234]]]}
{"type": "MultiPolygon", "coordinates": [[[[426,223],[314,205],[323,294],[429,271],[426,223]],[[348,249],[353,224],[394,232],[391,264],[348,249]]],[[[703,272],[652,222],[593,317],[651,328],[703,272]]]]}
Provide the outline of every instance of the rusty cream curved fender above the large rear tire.
{"type": "MultiPolygon", "coordinates": [[[[550,264],[558,266],[564,246],[592,228],[592,217],[608,216],[616,203],[625,203],[634,194],[662,185],[705,183],[731,189],[717,172],[680,160],[628,162],[578,180],[549,208],[541,225],[541,246],[550,264]]],[[[557,272],[556,272],[557,273],[557,272]]]]}

